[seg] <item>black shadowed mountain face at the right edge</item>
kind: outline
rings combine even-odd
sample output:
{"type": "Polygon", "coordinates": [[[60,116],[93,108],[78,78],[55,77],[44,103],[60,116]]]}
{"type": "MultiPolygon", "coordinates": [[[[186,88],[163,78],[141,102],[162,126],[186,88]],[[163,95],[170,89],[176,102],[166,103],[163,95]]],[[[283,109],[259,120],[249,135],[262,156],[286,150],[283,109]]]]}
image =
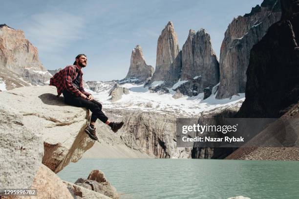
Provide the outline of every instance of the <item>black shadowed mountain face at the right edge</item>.
{"type": "Polygon", "coordinates": [[[282,0],[282,19],[251,50],[245,118],[278,118],[299,100],[299,1],[282,0]]]}

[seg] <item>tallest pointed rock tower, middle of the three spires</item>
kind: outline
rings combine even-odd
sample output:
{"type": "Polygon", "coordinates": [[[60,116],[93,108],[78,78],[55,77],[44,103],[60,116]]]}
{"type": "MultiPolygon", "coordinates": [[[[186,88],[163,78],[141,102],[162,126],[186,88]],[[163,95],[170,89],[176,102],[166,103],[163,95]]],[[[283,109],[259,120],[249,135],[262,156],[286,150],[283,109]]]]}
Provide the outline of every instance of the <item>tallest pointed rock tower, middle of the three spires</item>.
{"type": "Polygon", "coordinates": [[[150,80],[151,84],[163,81],[165,87],[171,87],[180,78],[182,55],[177,35],[171,21],[162,30],[157,44],[156,69],[150,80]]]}

